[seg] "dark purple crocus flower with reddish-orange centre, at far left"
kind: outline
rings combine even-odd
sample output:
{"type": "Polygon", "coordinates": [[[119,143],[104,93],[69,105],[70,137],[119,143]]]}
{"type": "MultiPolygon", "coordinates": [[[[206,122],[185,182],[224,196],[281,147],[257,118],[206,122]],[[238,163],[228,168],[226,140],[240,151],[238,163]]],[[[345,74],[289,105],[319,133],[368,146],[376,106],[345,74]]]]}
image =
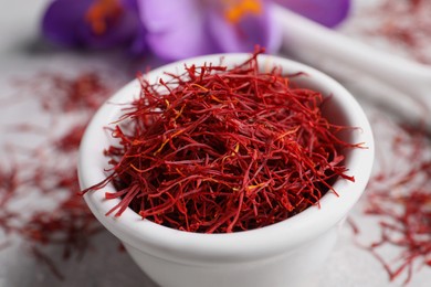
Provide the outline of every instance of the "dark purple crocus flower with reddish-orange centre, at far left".
{"type": "Polygon", "coordinates": [[[43,17],[42,32],[67,47],[146,50],[136,0],[55,0],[43,17]]]}

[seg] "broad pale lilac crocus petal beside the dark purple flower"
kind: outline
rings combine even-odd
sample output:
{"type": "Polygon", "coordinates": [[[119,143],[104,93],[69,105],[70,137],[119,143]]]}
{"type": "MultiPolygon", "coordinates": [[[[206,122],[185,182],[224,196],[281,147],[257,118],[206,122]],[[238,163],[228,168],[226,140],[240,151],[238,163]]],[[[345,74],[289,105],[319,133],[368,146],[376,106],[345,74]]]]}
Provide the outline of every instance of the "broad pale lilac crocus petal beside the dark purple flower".
{"type": "MultiPolygon", "coordinates": [[[[176,4],[172,2],[172,7],[176,4]]],[[[181,2],[180,10],[165,9],[165,1],[141,1],[140,15],[147,28],[147,43],[165,60],[179,60],[213,52],[204,17],[195,0],[181,2]],[[155,12],[154,14],[151,12],[155,12]]]]}

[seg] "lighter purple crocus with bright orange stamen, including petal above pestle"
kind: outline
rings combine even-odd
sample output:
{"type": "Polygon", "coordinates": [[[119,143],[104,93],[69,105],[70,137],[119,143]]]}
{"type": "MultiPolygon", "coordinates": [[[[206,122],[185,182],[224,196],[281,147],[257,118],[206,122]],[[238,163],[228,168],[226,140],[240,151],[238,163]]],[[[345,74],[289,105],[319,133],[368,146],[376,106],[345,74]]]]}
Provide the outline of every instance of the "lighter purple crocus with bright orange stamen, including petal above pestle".
{"type": "Polygon", "coordinates": [[[271,17],[273,2],[327,26],[343,21],[349,0],[141,0],[147,43],[158,56],[176,60],[214,52],[274,52],[281,33],[271,17]]]}

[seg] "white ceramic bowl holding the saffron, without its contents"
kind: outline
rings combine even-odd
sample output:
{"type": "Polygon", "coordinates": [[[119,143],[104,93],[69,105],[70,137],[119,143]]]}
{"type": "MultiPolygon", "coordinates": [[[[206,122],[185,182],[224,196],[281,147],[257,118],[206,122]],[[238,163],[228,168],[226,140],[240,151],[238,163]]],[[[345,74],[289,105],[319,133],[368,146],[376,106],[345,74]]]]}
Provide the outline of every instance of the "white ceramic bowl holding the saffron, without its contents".
{"type": "MultiPolygon", "coordinates": [[[[183,72],[183,64],[219,63],[221,55],[201,56],[157,68],[148,74],[150,82],[162,72],[183,72]]],[[[239,64],[249,54],[225,54],[227,65],[239,64]]],[[[94,215],[117,236],[140,268],[160,286],[299,286],[317,272],[335,245],[339,223],[361,195],[374,160],[374,141],[369,123],[355,98],[333,78],[323,73],[276,56],[260,55],[260,65],[277,65],[286,74],[304,72],[301,85],[332,95],[326,106],[327,117],[341,125],[359,127],[346,136],[351,142],[365,142],[367,149],[353,149],[346,155],[348,173],[355,182],[339,179],[334,188],[339,196],[328,192],[320,208],[312,206],[283,222],[257,230],[230,234],[198,234],[165,227],[141,220],[130,209],[122,216],[105,216],[118,200],[105,200],[108,185],[85,194],[94,215]]],[[[107,159],[103,149],[112,139],[104,127],[118,118],[122,105],[139,95],[139,84],[133,81],[105,103],[88,125],[80,150],[78,176],[82,189],[106,178],[107,159]],[[111,104],[109,104],[111,103],[111,104]]],[[[127,268],[125,266],[125,268],[127,268]]]]}

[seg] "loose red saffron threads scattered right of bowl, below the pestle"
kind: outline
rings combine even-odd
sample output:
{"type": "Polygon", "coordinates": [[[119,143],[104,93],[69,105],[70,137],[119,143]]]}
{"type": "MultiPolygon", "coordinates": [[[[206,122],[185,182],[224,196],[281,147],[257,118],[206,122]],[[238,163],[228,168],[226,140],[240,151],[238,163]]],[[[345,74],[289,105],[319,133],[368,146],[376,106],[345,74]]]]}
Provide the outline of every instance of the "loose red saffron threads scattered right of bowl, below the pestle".
{"type": "Polygon", "coordinates": [[[431,142],[422,128],[385,119],[374,124],[387,131],[378,147],[389,150],[390,158],[377,153],[379,168],[365,201],[365,213],[379,219],[380,238],[360,245],[382,264],[390,280],[406,275],[408,284],[413,272],[431,267],[431,142]]]}

